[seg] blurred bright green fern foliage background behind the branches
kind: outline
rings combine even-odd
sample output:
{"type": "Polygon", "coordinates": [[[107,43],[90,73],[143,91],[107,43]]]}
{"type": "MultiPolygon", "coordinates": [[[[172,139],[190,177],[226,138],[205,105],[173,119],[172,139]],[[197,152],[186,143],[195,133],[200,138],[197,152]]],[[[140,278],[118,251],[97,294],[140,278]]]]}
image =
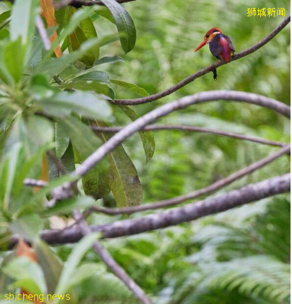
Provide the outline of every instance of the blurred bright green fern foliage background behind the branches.
{"type": "MultiPolygon", "coordinates": [[[[265,37],[283,17],[247,17],[247,7],[284,7],[288,0],[136,0],[124,4],[137,29],[135,48],[123,55],[119,42],[100,49],[100,57],[120,55],[124,62],[101,65],[113,79],[143,87],[149,94],[170,87],[214,62],[208,47],[193,50],[205,32],[219,27],[236,51],[265,37]]],[[[103,18],[97,34],[115,32],[103,18]]],[[[135,98],[115,87],[117,98],[135,98]]],[[[290,26],[255,53],[207,74],[159,101],[137,106],[139,114],[185,95],[213,89],[259,93],[290,103],[290,26]]],[[[117,124],[127,124],[115,109],[117,124]]],[[[190,124],[231,130],[288,142],[289,122],[268,109],[216,102],[196,105],[159,123],[190,124]]],[[[156,131],[155,154],[145,164],[138,135],[125,142],[143,185],[144,201],[182,195],[207,186],[265,156],[276,148],[209,134],[156,131]]],[[[221,192],[289,172],[283,156],[221,192]]],[[[109,195],[104,204],[112,206],[109,195]]],[[[131,217],[140,216],[133,215],[131,217]]],[[[92,215],[91,224],[119,217],[92,215]]],[[[122,218],[122,216],[121,216],[122,218]]],[[[134,237],[103,242],[122,267],[158,304],[284,304],[290,302],[290,201],[288,195],[265,199],[214,217],[134,237]]],[[[72,245],[54,247],[66,261],[72,245]]],[[[93,251],[82,261],[97,262],[95,276],[77,288],[80,303],[136,303],[121,282],[107,272],[93,251]]]]}

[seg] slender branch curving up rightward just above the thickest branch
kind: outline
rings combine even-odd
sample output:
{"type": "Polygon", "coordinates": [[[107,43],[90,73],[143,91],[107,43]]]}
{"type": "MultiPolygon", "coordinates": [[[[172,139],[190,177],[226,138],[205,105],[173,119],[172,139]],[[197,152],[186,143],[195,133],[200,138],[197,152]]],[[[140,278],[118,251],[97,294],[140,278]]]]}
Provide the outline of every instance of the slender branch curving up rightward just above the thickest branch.
{"type": "Polygon", "coordinates": [[[233,173],[223,179],[220,179],[219,181],[209,185],[208,187],[190,192],[186,195],[176,196],[176,197],[173,197],[170,199],[152,202],[152,203],[148,203],[148,204],[144,204],[144,205],[140,205],[140,206],[132,206],[132,207],[125,207],[125,208],[103,208],[103,207],[94,206],[94,207],[87,209],[84,212],[83,216],[87,217],[91,212],[101,212],[101,213],[105,213],[107,215],[118,215],[118,214],[130,215],[135,212],[154,210],[154,209],[165,208],[165,207],[177,205],[188,199],[194,199],[201,195],[205,195],[205,194],[217,191],[217,190],[231,184],[235,180],[238,180],[239,178],[242,178],[243,176],[250,174],[250,173],[266,166],[273,160],[277,159],[281,155],[288,153],[288,152],[290,152],[290,145],[287,145],[286,147],[280,149],[279,151],[277,151],[273,154],[270,154],[268,157],[265,157],[265,158],[261,159],[260,161],[257,161],[236,173],[233,173]]]}

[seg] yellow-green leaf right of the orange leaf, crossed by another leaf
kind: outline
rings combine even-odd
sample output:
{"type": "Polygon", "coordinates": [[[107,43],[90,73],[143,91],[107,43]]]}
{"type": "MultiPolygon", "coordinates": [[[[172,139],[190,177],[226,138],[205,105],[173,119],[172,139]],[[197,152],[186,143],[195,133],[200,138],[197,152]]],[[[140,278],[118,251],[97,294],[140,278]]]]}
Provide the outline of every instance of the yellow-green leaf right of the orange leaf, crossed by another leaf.
{"type": "MultiPolygon", "coordinates": [[[[67,6],[67,16],[68,19],[71,18],[76,9],[72,6],[67,6]]],[[[75,28],[72,34],[67,38],[68,49],[70,52],[80,48],[81,43],[85,42],[88,39],[97,37],[96,29],[93,25],[93,22],[89,17],[83,19],[79,26],[75,28]]],[[[80,59],[86,66],[92,66],[96,59],[99,56],[99,46],[95,46],[88,50],[86,54],[80,59]]]]}

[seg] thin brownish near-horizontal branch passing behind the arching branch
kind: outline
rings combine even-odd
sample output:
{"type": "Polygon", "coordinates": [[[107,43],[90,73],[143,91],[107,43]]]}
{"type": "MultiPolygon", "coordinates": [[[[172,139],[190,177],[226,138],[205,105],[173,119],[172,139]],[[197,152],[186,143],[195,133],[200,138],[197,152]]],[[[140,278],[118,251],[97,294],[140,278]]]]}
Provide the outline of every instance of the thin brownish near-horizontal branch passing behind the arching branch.
{"type": "MultiPolygon", "coordinates": [[[[116,133],[122,130],[124,127],[97,127],[92,126],[91,129],[94,130],[96,133],[116,133]]],[[[181,131],[196,131],[196,132],[203,132],[203,133],[210,133],[210,134],[217,134],[237,139],[243,139],[247,141],[252,141],[259,144],[270,145],[270,146],[277,146],[277,147],[284,147],[286,143],[280,143],[278,141],[271,141],[264,138],[258,138],[249,135],[243,135],[235,132],[226,132],[221,130],[215,129],[208,129],[202,127],[195,127],[195,126],[188,126],[188,125],[149,125],[140,130],[143,131],[156,131],[156,130],[181,130],[181,131]]]]}

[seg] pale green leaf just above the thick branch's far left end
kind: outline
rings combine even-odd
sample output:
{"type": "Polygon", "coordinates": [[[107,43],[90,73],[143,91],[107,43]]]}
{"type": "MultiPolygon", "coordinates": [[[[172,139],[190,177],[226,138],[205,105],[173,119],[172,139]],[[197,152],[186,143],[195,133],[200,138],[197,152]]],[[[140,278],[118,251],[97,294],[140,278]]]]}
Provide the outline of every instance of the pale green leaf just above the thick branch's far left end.
{"type": "Polygon", "coordinates": [[[9,228],[13,233],[36,243],[42,229],[42,220],[36,214],[24,215],[14,220],[9,228]]]}

